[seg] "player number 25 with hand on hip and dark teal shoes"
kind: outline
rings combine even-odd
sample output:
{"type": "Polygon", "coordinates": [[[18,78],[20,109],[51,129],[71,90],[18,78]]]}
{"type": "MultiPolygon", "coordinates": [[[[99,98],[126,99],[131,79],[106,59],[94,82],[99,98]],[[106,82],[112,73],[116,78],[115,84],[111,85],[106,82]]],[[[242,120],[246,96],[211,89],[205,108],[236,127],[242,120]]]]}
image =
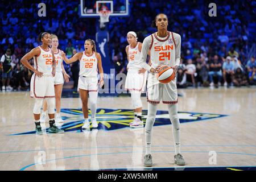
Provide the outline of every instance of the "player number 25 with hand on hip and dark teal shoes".
{"type": "Polygon", "coordinates": [[[43,134],[40,126],[40,110],[44,98],[48,103],[49,133],[63,133],[64,130],[58,129],[54,120],[55,93],[53,76],[55,76],[56,65],[54,53],[49,48],[49,45],[51,44],[51,35],[48,32],[43,32],[39,35],[39,40],[42,42],[42,45],[26,53],[26,55],[24,55],[20,60],[25,67],[34,72],[30,83],[30,96],[35,98],[33,113],[35,118],[36,134],[43,134]],[[28,62],[28,60],[33,57],[34,67],[32,67],[28,62]]]}

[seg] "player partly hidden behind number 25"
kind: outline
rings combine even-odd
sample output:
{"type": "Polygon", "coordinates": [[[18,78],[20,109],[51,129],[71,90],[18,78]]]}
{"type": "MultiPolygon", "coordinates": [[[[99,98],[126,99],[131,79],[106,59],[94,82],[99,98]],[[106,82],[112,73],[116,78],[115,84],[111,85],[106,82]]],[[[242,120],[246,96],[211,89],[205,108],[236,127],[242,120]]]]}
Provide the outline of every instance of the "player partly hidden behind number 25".
{"type": "MultiPolygon", "coordinates": [[[[52,38],[52,51],[54,52],[54,57],[56,60],[56,73],[54,77],[54,90],[55,90],[55,101],[56,101],[56,122],[63,122],[60,116],[60,99],[61,93],[63,89],[64,80],[65,82],[69,82],[69,75],[65,72],[63,67],[63,59],[61,57],[61,50],[58,49],[59,40],[56,35],[51,35],[52,38]],[[64,76],[64,78],[63,78],[64,76]]],[[[46,110],[47,110],[47,102],[44,100],[43,102],[43,113],[40,118],[40,122],[46,121],[46,110]]]]}

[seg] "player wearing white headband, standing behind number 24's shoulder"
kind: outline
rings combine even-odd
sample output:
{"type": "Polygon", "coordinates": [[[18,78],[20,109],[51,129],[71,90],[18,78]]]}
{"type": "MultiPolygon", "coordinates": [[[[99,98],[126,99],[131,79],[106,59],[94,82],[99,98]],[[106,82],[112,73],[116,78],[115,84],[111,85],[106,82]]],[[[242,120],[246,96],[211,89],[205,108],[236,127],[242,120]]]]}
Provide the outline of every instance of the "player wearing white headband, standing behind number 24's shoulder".
{"type": "Polygon", "coordinates": [[[139,63],[142,43],[137,42],[137,34],[133,31],[127,33],[127,42],[129,45],[126,46],[125,51],[129,63],[127,65],[128,72],[125,89],[131,93],[131,102],[135,115],[130,127],[143,127],[141,92],[146,86],[147,73],[145,73],[146,69],[143,69],[139,63]]]}

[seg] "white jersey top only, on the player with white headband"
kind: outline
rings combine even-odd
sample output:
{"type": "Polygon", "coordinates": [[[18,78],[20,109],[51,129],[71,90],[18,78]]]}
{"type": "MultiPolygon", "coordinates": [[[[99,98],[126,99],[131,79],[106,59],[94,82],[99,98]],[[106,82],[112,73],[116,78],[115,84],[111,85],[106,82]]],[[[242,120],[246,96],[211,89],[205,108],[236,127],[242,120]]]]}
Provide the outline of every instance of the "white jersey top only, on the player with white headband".
{"type": "Polygon", "coordinates": [[[131,48],[131,45],[128,47],[128,57],[129,63],[127,68],[142,68],[139,61],[141,60],[141,52],[139,52],[139,43],[135,48],[131,48]]]}

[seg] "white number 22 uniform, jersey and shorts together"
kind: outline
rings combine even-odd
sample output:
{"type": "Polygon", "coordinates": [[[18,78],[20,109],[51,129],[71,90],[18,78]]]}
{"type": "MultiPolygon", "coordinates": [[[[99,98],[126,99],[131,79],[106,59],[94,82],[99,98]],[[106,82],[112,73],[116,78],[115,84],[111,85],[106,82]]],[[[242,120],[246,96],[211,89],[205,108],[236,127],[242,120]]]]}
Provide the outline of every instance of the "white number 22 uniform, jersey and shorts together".
{"type": "Polygon", "coordinates": [[[98,59],[96,53],[92,56],[82,53],[80,60],[79,83],[77,90],[88,90],[89,92],[98,91],[98,59]]]}

